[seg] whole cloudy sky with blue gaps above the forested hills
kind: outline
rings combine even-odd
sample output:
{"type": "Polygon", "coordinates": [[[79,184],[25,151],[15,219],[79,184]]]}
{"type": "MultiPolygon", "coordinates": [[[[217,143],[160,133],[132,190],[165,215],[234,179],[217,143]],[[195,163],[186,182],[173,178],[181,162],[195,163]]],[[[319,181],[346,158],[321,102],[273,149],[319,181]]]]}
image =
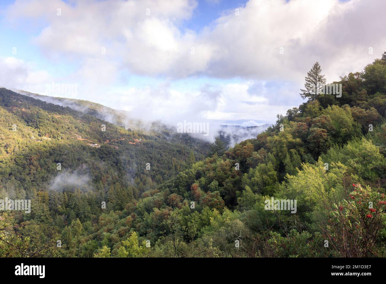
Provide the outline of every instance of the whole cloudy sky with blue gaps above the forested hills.
{"type": "Polygon", "coordinates": [[[5,0],[0,86],[171,124],[273,122],[303,102],[316,61],[333,82],[381,57],[379,11],[386,1],[5,0]]]}

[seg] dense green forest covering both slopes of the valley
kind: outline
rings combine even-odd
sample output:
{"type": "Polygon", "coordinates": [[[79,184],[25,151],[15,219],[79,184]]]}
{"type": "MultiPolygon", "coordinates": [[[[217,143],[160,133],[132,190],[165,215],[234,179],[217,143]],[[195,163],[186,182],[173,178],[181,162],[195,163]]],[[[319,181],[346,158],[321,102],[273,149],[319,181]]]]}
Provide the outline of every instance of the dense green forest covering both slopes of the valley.
{"type": "Polygon", "coordinates": [[[386,53],[334,83],[207,158],[0,89],[0,197],[32,200],[0,213],[0,255],[386,257],[386,53]]]}

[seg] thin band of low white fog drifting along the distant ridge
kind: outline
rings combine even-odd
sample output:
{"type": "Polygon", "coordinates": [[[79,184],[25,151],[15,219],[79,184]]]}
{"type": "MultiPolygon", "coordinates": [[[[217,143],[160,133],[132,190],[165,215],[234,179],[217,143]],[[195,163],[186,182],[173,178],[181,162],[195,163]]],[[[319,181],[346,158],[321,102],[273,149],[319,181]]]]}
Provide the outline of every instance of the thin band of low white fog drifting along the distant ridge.
{"type": "Polygon", "coordinates": [[[198,133],[189,134],[194,138],[202,139],[208,143],[212,143],[216,136],[222,136],[223,138],[229,140],[228,146],[230,147],[234,146],[236,143],[240,143],[245,139],[255,138],[257,134],[265,131],[269,126],[272,125],[272,122],[269,121],[243,119],[235,121],[219,119],[203,120],[198,116],[191,115],[189,116],[191,119],[183,119],[186,114],[179,116],[176,114],[165,114],[166,119],[153,120],[152,116],[149,116],[147,113],[144,113],[142,117],[136,117],[135,113],[138,110],[129,112],[111,109],[110,107],[105,107],[102,105],[99,105],[100,109],[95,110],[93,109],[93,102],[89,102],[89,104],[87,104],[87,101],[50,97],[15,89],[14,91],[22,95],[33,97],[34,99],[43,100],[47,103],[61,105],[63,107],[70,107],[71,109],[80,111],[83,114],[91,114],[102,119],[103,121],[123,126],[126,129],[139,130],[147,134],[152,131],[161,133],[164,132],[165,129],[168,129],[172,135],[178,134],[178,125],[183,124],[184,121],[185,124],[205,124],[206,127],[198,129],[203,130],[203,132],[198,131],[198,133]],[[80,102],[82,102],[83,105],[80,105],[80,102]],[[90,111],[92,111],[92,113],[90,113],[90,111]]]}

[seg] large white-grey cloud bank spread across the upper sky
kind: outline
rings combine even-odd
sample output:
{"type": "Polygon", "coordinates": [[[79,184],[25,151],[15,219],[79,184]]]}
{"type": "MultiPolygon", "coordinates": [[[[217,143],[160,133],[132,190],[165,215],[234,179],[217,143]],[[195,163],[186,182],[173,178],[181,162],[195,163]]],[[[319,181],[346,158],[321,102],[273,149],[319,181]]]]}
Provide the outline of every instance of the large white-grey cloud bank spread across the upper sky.
{"type": "Polygon", "coordinates": [[[315,61],[336,80],[386,49],[382,0],[250,0],[203,32],[181,30],[197,3],[16,1],[7,19],[45,19],[34,39],[48,56],[105,58],[140,75],[300,81],[315,61]],[[61,16],[56,9],[62,9],[61,16]],[[149,15],[146,15],[150,9],[149,15]],[[279,53],[283,48],[284,54],[279,53]],[[374,48],[374,55],[368,48],[374,48]],[[194,54],[192,54],[194,48],[194,54]],[[359,59],[358,59],[359,58],[359,59]]]}

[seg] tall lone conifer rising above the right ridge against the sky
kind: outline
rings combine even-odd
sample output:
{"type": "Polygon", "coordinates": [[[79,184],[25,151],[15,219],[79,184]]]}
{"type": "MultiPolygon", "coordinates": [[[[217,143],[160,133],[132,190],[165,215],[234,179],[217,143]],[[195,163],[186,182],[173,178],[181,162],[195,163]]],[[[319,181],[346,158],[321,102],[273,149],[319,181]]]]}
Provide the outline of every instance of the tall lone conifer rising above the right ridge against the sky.
{"type": "Polygon", "coordinates": [[[318,62],[316,62],[310,71],[307,72],[304,84],[305,89],[300,89],[300,96],[303,99],[315,100],[317,98],[319,88],[326,83],[326,78],[322,75],[322,69],[318,62]]]}

